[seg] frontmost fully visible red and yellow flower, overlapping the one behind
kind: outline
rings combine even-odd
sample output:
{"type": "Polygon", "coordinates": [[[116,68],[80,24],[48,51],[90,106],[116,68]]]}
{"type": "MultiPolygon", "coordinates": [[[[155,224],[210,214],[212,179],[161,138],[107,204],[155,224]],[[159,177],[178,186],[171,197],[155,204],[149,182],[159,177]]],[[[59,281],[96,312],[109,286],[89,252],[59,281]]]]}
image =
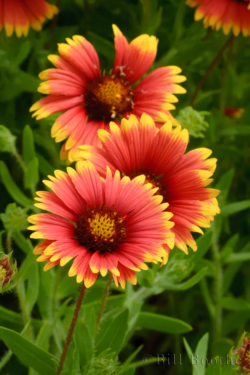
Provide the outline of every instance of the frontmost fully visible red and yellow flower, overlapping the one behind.
{"type": "Polygon", "coordinates": [[[89,161],[78,162],[76,169],[55,171],[44,181],[53,192],[37,192],[36,207],[53,213],[28,217],[34,224],[28,229],[35,231],[30,237],[45,239],[34,248],[37,261],[47,261],[48,270],[75,258],[69,276],[84,279],[86,287],[108,270],[122,288],[126,279],[136,284],[135,271],[146,270],[144,262],[162,261],[162,244],[171,246],[168,204],[161,204],[162,196],[154,195],[157,189],[145,184],[144,175],[130,180],[116,171],[112,177],[107,167],[104,180],[89,161]]]}

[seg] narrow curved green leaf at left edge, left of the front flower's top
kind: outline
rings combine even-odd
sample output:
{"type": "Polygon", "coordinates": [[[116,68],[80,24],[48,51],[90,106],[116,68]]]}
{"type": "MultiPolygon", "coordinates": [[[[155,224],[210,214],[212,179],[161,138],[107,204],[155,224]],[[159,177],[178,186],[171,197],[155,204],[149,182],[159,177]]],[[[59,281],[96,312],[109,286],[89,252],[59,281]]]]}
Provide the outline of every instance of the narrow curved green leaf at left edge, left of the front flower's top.
{"type": "Polygon", "coordinates": [[[33,206],[33,201],[28,199],[27,196],[24,195],[24,193],[19,189],[11,177],[6,164],[2,160],[0,160],[0,175],[7,192],[12,196],[14,201],[24,207],[33,206]]]}

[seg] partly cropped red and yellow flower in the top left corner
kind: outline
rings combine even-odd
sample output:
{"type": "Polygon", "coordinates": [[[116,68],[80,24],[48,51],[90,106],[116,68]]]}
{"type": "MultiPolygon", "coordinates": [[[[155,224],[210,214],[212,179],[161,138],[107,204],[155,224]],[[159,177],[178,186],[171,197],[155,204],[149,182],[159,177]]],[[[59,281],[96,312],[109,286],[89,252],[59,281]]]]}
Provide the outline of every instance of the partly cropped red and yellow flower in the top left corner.
{"type": "Polygon", "coordinates": [[[46,18],[58,13],[57,6],[45,0],[0,0],[0,30],[4,27],[6,35],[27,36],[28,30],[41,30],[46,18]]]}

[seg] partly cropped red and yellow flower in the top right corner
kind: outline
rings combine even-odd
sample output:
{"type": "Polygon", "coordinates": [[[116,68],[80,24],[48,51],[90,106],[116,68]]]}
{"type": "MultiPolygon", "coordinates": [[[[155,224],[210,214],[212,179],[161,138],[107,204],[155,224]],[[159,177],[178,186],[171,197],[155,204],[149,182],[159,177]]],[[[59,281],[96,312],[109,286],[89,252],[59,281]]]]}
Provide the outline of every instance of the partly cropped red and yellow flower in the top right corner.
{"type": "Polygon", "coordinates": [[[250,35],[250,1],[249,0],[186,0],[186,4],[195,7],[195,21],[202,18],[204,27],[211,26],[218,31],[222,27],[224,34],[231,28],[238,36],[250,35]]]}

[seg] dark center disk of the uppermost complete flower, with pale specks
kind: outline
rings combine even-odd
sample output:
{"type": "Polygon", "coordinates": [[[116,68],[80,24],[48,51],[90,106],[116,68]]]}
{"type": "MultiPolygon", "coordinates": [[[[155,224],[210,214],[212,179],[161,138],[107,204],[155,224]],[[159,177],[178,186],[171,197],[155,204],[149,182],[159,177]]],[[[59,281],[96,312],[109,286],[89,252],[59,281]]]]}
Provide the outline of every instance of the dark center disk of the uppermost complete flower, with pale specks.
{"type": "Polygon", "coordinates": [[[89,83],[85,89],[86,110],[90,118],[110,121],[132,111],[132,89],[118,75],[103,75],[89,83]]]}

